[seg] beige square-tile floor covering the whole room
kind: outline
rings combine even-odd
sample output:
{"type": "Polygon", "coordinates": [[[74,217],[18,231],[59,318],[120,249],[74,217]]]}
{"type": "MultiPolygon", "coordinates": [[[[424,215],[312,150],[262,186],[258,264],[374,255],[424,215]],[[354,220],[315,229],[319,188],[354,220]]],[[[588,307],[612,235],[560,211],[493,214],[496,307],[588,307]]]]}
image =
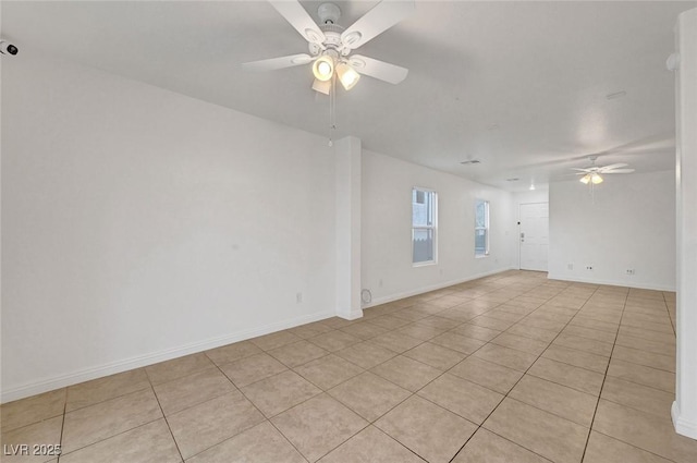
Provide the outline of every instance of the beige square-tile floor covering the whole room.
{"type": "Polygon", "coordinates": [[[670,418],[674,315],[673,293],[508,271],[4,404],[3,453],[694,463],[670,418]]]}

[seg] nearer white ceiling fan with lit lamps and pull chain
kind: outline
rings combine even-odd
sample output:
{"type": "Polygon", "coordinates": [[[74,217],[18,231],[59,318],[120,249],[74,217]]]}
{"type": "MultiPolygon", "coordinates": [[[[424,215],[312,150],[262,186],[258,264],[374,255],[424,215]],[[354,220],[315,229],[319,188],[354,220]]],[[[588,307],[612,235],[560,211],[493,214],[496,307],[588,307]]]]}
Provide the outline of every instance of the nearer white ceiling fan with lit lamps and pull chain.
{"type": "Polygon", "coordinates": [[[362,74],[399,84],[408,70],[384,61],[354,54],[354,50],[389,29],[414,11],[414,0],[383,0],[353,25],[338,24],[341,10],[333,3],[322,3],[317,10],[317,25],[297,0],[269,0],[269,3],[307,40],[309,53],[291,54],[244,63],[252,71],[276,71],[313,63],[313,89],[329,95],[332,81],[350,90],[362,74]]]}

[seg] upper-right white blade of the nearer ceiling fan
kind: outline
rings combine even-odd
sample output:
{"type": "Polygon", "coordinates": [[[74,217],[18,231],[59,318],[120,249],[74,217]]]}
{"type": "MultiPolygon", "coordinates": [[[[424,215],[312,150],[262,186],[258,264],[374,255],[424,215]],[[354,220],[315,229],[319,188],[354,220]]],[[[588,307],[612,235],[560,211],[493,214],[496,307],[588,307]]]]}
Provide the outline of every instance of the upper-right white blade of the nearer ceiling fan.
{"type": "Polygon", "coordinates": [[[414,0],[382,0],[341,33],[341,41],[345,47],[355,50],[404,20],[414,9],[414,0]]]}

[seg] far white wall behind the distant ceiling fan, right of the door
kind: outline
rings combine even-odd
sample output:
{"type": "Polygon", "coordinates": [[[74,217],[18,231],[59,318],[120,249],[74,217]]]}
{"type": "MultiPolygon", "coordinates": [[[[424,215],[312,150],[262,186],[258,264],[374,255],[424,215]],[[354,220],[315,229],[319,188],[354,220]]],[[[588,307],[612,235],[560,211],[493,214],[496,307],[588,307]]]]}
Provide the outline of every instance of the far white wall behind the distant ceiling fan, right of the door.
{"type": "Polygon", "coordinates": [[[549,278],[674,291],[675,173],[607,175],[589,191],[550,184],[549,278]]]}

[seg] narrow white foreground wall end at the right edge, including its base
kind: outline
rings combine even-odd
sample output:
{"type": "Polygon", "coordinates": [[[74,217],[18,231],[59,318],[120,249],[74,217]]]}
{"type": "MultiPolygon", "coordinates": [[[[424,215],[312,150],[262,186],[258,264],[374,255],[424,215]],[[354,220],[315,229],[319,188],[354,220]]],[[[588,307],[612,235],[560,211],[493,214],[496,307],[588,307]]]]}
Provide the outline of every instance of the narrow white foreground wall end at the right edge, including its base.
{"type": "Polygon", "coordinates": [[[697,439],[697,9],[677,20],[677,369],[675,430],[697,439]]]}

